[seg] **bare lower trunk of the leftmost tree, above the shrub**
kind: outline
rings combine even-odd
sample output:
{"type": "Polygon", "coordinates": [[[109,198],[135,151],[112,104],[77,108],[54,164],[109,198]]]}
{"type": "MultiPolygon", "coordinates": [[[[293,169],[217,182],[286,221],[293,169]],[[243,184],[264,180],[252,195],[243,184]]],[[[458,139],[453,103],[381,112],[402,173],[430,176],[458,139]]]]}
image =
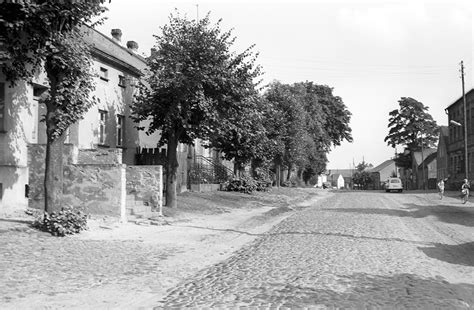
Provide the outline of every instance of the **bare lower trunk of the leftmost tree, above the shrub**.
{"type": "Polygon", "coordinates": [[[63,194],[63,149],[65,135],[53,140],[51,128],[55,126],[46,122],[48,135],[46,143],[46,161],[44,171],[44,211],[60,211],[63,194]]]}

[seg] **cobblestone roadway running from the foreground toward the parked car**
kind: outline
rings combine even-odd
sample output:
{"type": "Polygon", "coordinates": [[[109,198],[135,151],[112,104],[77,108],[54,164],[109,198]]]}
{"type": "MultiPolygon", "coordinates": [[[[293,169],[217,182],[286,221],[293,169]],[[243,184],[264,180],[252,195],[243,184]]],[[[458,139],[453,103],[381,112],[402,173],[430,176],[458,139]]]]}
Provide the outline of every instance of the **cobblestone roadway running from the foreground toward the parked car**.
{"type": "Polygon", "coordinates": [[[434,193],[341,192],[156,306],[474,309],[474,204],[434,193]]]}

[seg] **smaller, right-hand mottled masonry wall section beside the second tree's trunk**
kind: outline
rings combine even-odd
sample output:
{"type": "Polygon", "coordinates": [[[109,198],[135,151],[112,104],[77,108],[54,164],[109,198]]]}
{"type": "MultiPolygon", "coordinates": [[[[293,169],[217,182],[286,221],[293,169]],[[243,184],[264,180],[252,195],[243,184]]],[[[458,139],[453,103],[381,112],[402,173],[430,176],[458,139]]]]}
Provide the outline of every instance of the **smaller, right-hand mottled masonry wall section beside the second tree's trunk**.
{"type": "Polygon", "coordinates": [[[150,206],[159,206],[163,191],[162,166],[127,166],[127,195],[147,202],[150,206]]]}

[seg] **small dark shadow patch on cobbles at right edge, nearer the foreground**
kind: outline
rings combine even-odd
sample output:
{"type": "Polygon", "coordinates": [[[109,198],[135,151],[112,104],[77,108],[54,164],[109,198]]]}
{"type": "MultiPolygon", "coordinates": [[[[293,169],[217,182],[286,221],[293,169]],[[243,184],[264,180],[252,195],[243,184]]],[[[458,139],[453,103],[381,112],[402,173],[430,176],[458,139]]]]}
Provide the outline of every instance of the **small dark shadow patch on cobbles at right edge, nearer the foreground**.
{"type": "Polygon", "coordinates": [[[418,249],[431,258],[450,264],[474,266],[474,242],[456,245],[436,243],[432,247],[418,247],[418,249]]]}

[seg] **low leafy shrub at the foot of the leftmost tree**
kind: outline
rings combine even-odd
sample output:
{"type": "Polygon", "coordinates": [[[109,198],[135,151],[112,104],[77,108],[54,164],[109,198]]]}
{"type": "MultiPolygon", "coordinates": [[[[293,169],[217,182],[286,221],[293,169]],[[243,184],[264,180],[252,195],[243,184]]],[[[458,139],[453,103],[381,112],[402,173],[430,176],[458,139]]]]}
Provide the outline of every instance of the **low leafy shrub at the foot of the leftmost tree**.
{"type": "Polygon", "coordinates": [[[42,231],[47,231],[53,236],[64,237],[77,234],[87,229],[87,214],[72,207],[65,207],[61,211],[51,214],[44,212],[33,226],[42,231]]]}

